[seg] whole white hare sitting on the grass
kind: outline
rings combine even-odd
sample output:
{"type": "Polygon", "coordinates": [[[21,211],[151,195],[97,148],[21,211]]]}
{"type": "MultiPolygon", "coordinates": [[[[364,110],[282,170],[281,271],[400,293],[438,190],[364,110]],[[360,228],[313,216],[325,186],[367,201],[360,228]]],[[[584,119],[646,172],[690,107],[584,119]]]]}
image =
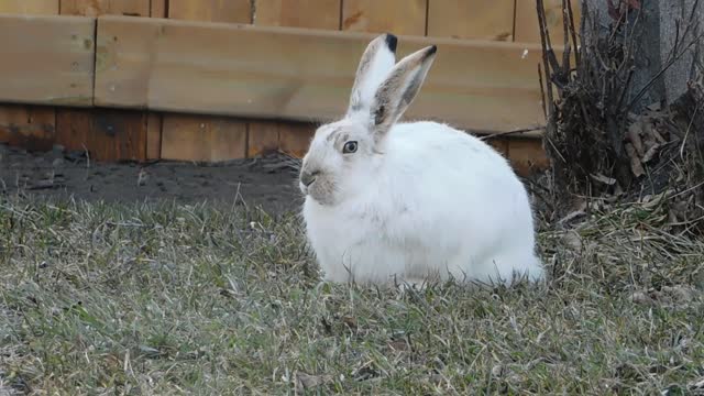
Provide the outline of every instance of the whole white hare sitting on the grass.
{"type": "Polygon", "coordinates": [[[507,161],[446,124],[397,123],[437,48],[396,64],[396,42],[369,44],[345,117],[320,127],[302,160],[302,216],[324,279],[542,278],[528,195],[507,161]]]}

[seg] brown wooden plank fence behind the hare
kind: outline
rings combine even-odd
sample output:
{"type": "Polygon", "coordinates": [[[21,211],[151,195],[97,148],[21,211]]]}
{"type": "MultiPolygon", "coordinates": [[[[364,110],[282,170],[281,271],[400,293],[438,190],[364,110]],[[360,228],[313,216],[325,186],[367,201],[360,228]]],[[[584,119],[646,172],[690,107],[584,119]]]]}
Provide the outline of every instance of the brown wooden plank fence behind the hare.
{"type": "MultiPolygon", "coordinates": [[[[556,43],[560,3],[546,1],[556,43]]],[[[102,161],[300,156],[380,32],[399,56],[439,47],[407,118],[544,123],[535,0],[0,0],[0,142],[102,161]]],[[[492,142],[525,174],[546,165],[539,134],[492,142]]]]}

